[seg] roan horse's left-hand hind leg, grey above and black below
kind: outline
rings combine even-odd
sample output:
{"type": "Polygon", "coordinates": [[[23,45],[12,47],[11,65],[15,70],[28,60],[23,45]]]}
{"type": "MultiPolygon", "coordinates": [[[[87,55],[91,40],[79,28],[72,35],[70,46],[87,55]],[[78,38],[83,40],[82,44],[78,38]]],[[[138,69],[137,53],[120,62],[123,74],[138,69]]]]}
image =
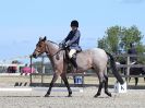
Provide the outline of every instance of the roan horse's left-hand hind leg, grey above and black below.
{"type": "Polygon", "coordinates": [[[94,97],[98,97],[100,95],[100,93],[101,93],[101,88],[102,88],[104,82],[105,82],[105,76],[104,76],[102,72],[98,73],[98,79],[99,79],[99,87],[98,87],[97,94],[94,97]]]}

